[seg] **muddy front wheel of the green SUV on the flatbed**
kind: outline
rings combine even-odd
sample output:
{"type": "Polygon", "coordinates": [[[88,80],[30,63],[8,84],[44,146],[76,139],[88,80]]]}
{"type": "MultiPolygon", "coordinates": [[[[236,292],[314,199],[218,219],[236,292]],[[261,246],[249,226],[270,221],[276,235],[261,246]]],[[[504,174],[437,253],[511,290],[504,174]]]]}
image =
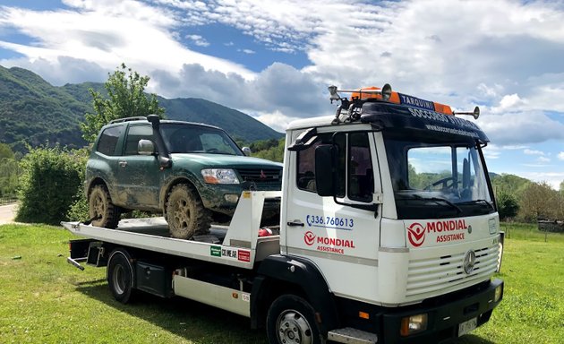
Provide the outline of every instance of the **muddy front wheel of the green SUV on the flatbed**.
{"type": "Polygon", "coordinates": [[[185,184],[175,185],[168,193],[167,222],[170,234],[180,239],[209,233],[209,211],[200,196],[185,184]]]}

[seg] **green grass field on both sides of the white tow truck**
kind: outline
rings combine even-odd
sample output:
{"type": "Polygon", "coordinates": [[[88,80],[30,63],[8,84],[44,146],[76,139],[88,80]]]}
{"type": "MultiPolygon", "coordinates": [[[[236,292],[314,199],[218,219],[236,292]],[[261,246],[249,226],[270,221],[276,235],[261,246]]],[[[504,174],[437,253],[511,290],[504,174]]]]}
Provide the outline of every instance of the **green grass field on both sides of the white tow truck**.
{"type": "MultiPolygon", "coordinates": [[[[564,338],[564,235],[511,225],[490,323],[457,344],[560,343],[564,338]]],[[[0,226],[0,343],[266,343],[244,317],[184,299],[114,301],[105,269],[66,263],[62,228],[0,226]]]]}

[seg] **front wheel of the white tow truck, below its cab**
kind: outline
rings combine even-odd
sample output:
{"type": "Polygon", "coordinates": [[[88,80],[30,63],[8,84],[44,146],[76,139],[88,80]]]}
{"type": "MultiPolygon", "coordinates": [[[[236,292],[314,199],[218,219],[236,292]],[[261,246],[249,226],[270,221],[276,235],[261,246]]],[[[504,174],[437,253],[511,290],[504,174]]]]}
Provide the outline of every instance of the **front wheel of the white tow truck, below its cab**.
{"type": "Polygon", "coordinates": [[[302,297],[283,295],[270,305],[267,314],[269,343],[323,344],[315,311],[302,297]]]}

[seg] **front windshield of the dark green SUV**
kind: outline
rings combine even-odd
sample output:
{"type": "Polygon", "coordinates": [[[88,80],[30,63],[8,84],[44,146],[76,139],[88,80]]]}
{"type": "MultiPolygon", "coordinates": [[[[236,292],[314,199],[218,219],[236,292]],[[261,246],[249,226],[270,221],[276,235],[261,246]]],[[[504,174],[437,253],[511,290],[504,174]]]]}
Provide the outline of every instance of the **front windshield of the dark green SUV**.
{"type": "Polygon", "coordinates": [[[216,128],[163,123],[160,130],[171,153],[244,155],[229,135],[216,128]]]}

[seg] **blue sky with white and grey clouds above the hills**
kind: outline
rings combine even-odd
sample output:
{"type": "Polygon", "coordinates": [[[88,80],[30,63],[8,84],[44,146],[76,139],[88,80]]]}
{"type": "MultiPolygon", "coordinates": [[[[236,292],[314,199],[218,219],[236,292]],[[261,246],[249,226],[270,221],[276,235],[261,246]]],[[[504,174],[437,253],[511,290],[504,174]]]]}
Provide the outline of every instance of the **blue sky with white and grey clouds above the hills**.
{"type": "Polygon", "coordinates": [[[480,105],[492,172],[564,180],[563,2],[0,0],[4,67],[63,85],[121,63],[278,131],[332,115],[329,84],[480,105]]]}

